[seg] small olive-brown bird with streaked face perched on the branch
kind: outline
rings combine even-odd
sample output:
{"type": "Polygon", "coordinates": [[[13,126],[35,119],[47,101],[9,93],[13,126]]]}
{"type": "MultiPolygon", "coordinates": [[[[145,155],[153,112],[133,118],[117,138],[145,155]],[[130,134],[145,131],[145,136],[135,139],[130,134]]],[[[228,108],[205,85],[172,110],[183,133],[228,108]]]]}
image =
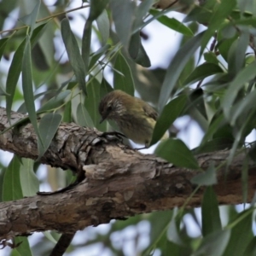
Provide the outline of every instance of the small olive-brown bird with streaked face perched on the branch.
{"type": "MultiPolygon", "coordinates": [[[[113,90],[102,98],[99,113],[102,116],[100,123],[105,119],[115,121],[126,137],[148,148],[158,118],[158,113],[148,103],[122,90],[113,90]]],[[[166,131],[161,139],[168,137],[166,131]]]]}

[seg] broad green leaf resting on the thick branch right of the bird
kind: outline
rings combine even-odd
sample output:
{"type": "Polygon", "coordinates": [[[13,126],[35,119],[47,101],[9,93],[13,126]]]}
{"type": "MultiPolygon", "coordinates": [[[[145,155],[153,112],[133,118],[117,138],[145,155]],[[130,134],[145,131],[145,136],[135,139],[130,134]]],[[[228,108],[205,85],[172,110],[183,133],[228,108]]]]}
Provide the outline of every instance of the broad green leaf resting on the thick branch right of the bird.
{"type": "Polygon", "coordinates": [[[174,166],[198,169],[198,163],[189,148],[179,139],[169,138],[155,149],[155,154],[174,166]]]}

